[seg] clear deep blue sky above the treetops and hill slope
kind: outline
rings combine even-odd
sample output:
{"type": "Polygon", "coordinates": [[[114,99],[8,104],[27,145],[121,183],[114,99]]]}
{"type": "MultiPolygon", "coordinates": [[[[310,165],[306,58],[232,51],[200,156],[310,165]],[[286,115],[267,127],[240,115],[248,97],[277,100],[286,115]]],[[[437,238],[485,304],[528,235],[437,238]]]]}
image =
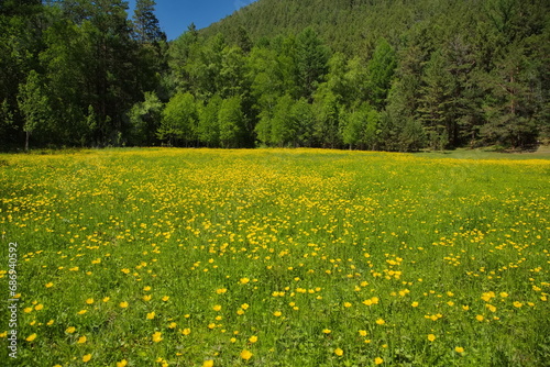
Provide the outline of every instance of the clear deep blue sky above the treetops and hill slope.
{"type": "MultiPolygon", "coordinates": [[[[191,22],[202,29],[217,22],[254,0],[155,0],[156,18],[168,40],[177,38],[191,22]]],[[[129,16],[134,13],[135,0],[128,0],[129,16]]]]}

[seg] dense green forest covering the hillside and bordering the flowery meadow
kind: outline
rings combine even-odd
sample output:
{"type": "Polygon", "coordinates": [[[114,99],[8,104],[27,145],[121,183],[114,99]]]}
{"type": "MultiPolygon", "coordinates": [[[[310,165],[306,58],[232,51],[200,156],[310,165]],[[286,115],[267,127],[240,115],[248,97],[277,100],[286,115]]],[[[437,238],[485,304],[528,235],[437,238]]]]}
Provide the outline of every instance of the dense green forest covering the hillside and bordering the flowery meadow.
{"type": "Polygon", "coordinates": [[[258,0],[173,42],[153,0],[0,4],[2,148],[550,137],[546,0],[258,0]]]}

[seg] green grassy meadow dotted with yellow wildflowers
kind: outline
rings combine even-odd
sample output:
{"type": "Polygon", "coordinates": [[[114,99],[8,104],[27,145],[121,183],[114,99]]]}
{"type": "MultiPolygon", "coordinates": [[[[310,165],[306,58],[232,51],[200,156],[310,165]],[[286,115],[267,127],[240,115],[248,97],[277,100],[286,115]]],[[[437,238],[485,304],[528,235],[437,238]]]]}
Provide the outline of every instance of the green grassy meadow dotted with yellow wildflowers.
{"type": "Polygon", "coordinates": [[[0,155],[0,360],[550,365],[549,178],[486,153],[0,155]]]}

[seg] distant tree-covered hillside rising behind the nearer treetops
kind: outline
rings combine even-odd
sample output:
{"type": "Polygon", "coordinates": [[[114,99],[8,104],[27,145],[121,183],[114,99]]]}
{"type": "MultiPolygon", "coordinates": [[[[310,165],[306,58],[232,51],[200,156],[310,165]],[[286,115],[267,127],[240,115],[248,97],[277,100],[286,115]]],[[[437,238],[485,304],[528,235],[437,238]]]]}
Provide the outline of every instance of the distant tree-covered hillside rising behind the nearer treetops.
{"type": "Polygon", "coordinates": [[[414,26],[457,15],[472,18],[485,5],[475,0],[258,0],[201,30],[201,34],[222,33],[235,41],[242,26],[257,42],[312,26],[332,51],[358,54],[372,49],[380,37],[398,44],[414,26]]]}

